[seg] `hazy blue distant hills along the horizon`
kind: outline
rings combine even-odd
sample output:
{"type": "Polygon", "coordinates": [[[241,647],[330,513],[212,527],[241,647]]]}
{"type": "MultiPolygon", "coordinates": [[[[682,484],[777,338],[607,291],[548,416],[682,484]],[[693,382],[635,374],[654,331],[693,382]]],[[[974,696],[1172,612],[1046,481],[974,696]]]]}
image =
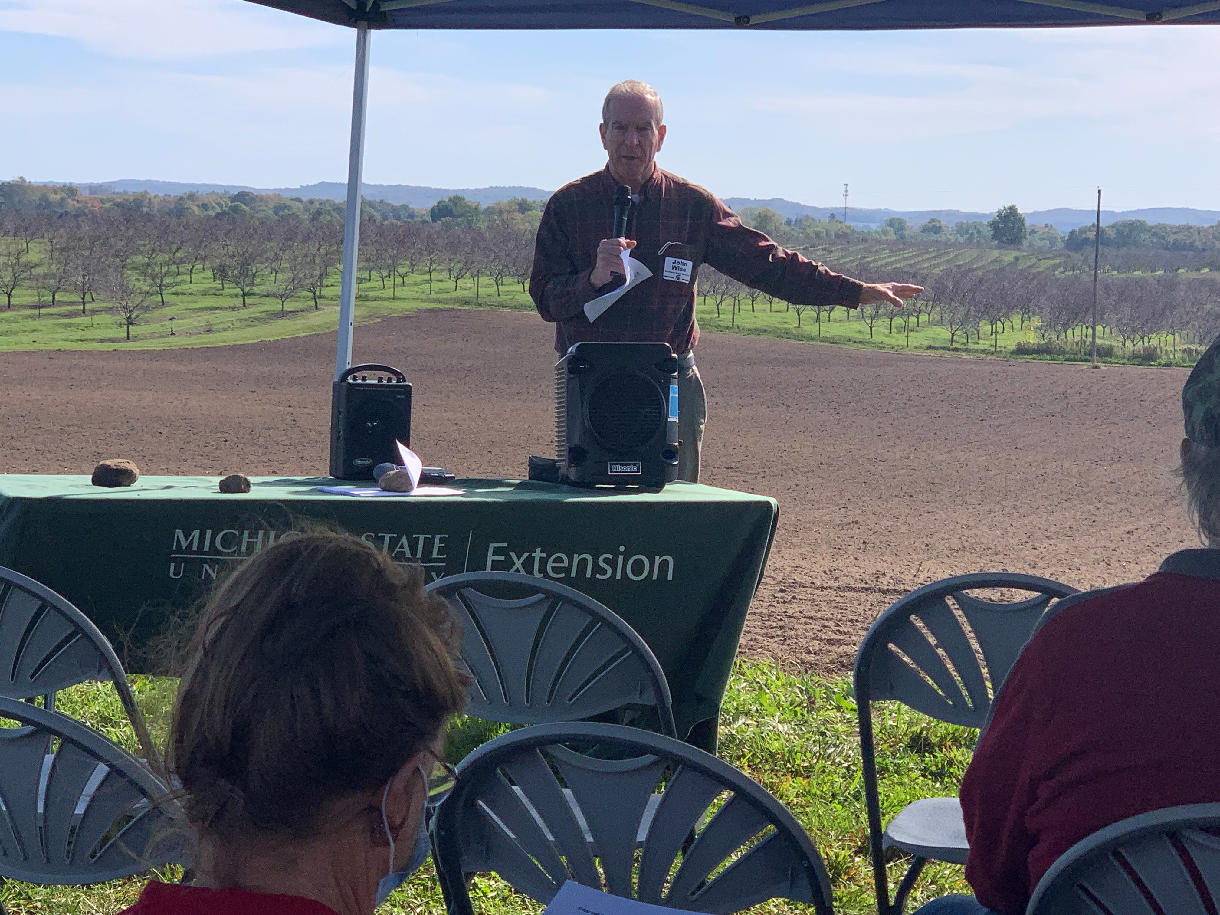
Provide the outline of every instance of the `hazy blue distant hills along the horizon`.
{"type": "MultiPolygon", "coordinates": [[[[66,182],[39,182],[45,184],[62,184],[66,182]]],[[[124,178],[122,181],[99,182],[96,184],[73,182],[85,194],[139,193],[146,190],[150,194],[185,194],[195,192],[198,194],[235,193],[250,190],[256,194],[283,194],[284,196],[320,198],[325,200],[343,200],[346,195],[346,185],[334,181],[305,184],[298,188],[251,188],[239,184],[205,184],[176,181],[145,181],[124,178]]],[[[473,200],[482,205],[494,204],[498,200],[511,200],[514,198],[527,198],[529,200],[545,200],[550,196],[549,190],[527,187],[490,187],[490,188],[425,188],[414,184],[365,184],[364,194],[370,200],[384,200],[388,204],[414,206],[426,209],[438,200],[460,194],[467,200],[473,200]]],[[[725,203],[734,210],[748,206],[767,207],[775,210],[781,216],[789,220],[811,216],[815,220],[827,220],[831,215],[843,218],[843,207],[810,206],[798,204],[783,198],[771,198],[760,200],[756,198],[730,196],[725,203]]],[[[889,209],[861,209],[848,206],[847,222],[858,228],[878,228],[886,220],[900,216],[913,226],[920,226],[928,220],[941,220],[952,226],[955,222],[986,222],[993,212],[971,212],[965,210],[889,210],[889,209]]],[[[1054,226],[1060,232],[1070,232],[1081,226],[1093,224],[1096,214],[1093,210],[1072,210],[1059,207],[1057,210],[1033,210],[1025,214],[1026,222],[1033,226],[1054,226]]],[[[1193,210],[1183,206],[1159,206],[1144,210],[1103,210],[1102,224],[1109,226],[1119,220],[1144,220],[1149,223],[1168,223],[1170,226],[1214,226],[1220,222],[1220,210],[1193,210]]]]}

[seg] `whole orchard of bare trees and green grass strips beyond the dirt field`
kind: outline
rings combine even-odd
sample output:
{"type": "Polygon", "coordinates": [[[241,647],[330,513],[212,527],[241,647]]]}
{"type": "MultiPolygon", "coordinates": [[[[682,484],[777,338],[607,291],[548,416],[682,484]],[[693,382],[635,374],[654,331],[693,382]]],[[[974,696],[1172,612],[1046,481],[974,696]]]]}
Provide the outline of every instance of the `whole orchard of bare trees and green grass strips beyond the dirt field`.
{"type": "MultiPolygon", "coordinates": [[[[221,334],[218,344],[333,326],[326,312],[337,306],[343,238],[336,201],[249,192],[87,198],[48,189],[32,196],[30,187],[0,184],[0,349],[200,333],[221,334]],[[12,195],[4,189],[12,187],[35,205],[6,205],[12,195]],[[284,329],[277,331],[276,322],[284,329]]],[[[431,210],[381,201],[364,206],[357,271],[364,316],[437,304],[532,309],[526,293],[540,201],[482,207],[451,196],[431,210]]],[[[706,329],[866,346],[1088,356],[1087,233],[1074,231],[1055,248],[1046,240],[1059,238],[1049,227],[1030,227],[1017,245],[978,240],[972,224],[887,223],[860,232],[844,223],[784,221],[772,211],[743,216],[842,273],[914,282],[925,293],[902,309],[806,306],[704,265],[697,294],[706,329]]],[[[1013,214],[1008,217],[1015,222],[1013,214]]],[[[1188,364],[1220,333],[1220,229],[1128,222],[1107,227],[1103,235],[1099,355],[1188,364]],[[1125,245],[1132,239],[1143,246],[1125,245]]]]}

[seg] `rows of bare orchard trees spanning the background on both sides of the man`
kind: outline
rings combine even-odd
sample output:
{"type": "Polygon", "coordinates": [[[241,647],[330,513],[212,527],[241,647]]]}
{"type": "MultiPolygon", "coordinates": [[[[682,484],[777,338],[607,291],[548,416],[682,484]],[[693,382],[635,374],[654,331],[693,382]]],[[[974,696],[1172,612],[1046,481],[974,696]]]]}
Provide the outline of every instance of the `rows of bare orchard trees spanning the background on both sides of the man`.
{"type": "MultiPolygon", "coordinates": [[[[438,283],[453,283],[454,292],[465,284],[476,298],[493,288],[499,295],[505,283],[526,288],[538,216],[529,201],[483,209],[451,198],[438,201],[429,215],[434,221],[367,218],[361,227],[362,281],[379,283],[390,298],[412,282],[426,283],[428,293],[438,283]]],[[[782,235],[776,227],[767,228],[782,235]]],[[[978,251],[982,266],[920,270],[876,267],[864,260],[871,248],[877,249],[878,264],[902,253],[902,243],[894,240],[853,244],[844,249],[848,254],[843,260],[860,260],[836,264],[836,268],[865,281],[909,279],[927,292],[905,309],[875,305],[856,312],[853,320],[864,321],[870,337],[878,326],[893,333],[895,323],[909,331],[935,321],[948,331],[950,345],[971,339],[978,343],[989,336],[998,346],[1005,327],[1015,323],[1024,328],[1031,322],[1047,343],[1083,339],[1081,328],[1089,322],[1092,309],[1092,281],[1086,270],[1092,266],[1091,257],[1068,257],[1058,265],[1038,261],[1041,270],[991,268],[986,262],[992,259],[994,264],[994,253],[978,251]]],[[[242,307],[256,298],[278,301],[281,314],[292,300],[321,307],[338,282],[340,253],[340,221],[262,218],[251,207],[220,216],[177,216],[156,207],[35,215],[0,211],[0,296],[11,309],[23,292],[20,298],[39,314],[66,301],[79,304],[81,312],[88,314],[92,304],[101,301],[121,320],[129,338],[132,326],[144,315],[203,276],[242,307]]],[[[1154,264],[1138,261],[1133,254],[1131,260],[1144,270],[1102,277],[1099,317],[1105,338],[1124,348],[1158,343],[1176,350],[1180,340],[1200,344],[1220,332],[1220,285],[1215,279],[1154,272],[1154,264]]],[[[831,307],[778,303],[706,267],[699,276],[699,292],[717,314],[727,305],[732,323],[747,306],[752,311],[781,307],[795,312],[798,326],[811,318],[820,332],[822,322],[834,314],[831,307]]]]}

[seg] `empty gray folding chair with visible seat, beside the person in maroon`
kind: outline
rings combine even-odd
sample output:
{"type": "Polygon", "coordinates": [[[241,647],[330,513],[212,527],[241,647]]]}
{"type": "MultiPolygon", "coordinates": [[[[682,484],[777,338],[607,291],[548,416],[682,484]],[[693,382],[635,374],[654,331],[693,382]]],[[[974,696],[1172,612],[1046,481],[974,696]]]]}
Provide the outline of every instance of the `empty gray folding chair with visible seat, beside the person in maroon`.
{"type": "Polygon", "coordinates": [[[928,859],[965,864],[970,845],[956,798],[916,800],[882,830],[872,703],[894,699],[939,721],[983,727],[992,700],[1042,614],[1052,600],[1075,593],[1068,584],[1032,575],[959,575],[913,590],[869,628],[856,651],[854,686],[880,915],[902,915],[928,859]],[[980,588],[1026,590],[1033,597],[996,603],[964,593],[980,588]],[[891,847],[915,858],[893,902],[884,864],[891,847]]]}

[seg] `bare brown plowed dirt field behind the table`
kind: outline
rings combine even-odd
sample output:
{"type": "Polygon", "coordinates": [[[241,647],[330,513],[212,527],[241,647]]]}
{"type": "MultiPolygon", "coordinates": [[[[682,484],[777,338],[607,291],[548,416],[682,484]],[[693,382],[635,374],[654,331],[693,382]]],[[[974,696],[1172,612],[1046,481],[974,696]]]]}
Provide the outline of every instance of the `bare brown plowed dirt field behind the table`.
{"type": "MultiPolygon", "coordinates": [[[[412,444],[459,476],[549,454],[550,327],[429,310],[356,331],[415,384],[412,444]]],[[[323,475],[334,334],[217,349],[0,354],[4,473],[323,475]]],[[[908,589],[972,571],[1076,587],[1197,545],[1172,467],[1185,370],[917,356],[705,334],[703,482],[773,495],[743,651],[843,673],[908,589]]]]}

